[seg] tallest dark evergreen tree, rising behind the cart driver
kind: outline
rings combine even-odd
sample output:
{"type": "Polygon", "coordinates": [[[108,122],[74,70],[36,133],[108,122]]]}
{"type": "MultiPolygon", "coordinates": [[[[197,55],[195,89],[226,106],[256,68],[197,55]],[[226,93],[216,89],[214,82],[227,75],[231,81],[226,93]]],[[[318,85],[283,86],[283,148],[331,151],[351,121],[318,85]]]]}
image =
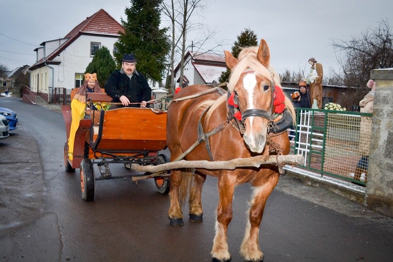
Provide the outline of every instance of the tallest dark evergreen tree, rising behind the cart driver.
{"type": "Polygon", "coordinates": [[[167,68],[166,56],[170,42],[166,36],[167,28],[160,29],[160,4],[162,0],[131,0],[131,7],[125,9],[127,20],[121,20],[125,32],[120,33],[115,43],[114,53],[118,65],[123,54],[134,53],[137,71],[147,79],[160,82],[167,68]]]}

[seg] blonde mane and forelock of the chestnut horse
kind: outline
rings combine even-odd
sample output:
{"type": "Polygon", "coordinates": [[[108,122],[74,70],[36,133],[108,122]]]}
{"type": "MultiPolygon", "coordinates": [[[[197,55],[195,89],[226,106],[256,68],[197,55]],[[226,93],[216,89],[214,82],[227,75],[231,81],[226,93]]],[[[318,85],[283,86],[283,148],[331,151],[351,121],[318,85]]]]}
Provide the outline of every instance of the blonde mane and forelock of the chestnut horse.
{"type": "MultiPolygon", "coordinates": [[[[268,78],[271,82],[274,83],[274,85],[279,86],[282,88],[280,79],[274,68],[269,64],[268,68],[266,68],[263,64],[259,62],[257,59],[257,53],[258,53],[258,46],[253,46],[253,47],[246,47],[241,52],[239,53],[238,57],[238,63],[235,67],[232,68],[231,70],[231,75],[229,77],[229,83],[228,83],[228,91],[232,92],[237,80],[240,78],[241,74],[248,68],[253,69],[256,73],[260,74],[261,76],[264,76],[268,78]]],[[[289,110],[290,115],[292,116],[293,123],[296,121],[296,115],[295,115],[295,109],[292,104],[292,101],[285,95],[285,106],[289,110]]],[[[227,100],[227,95],[223,95],[221,98],[219,98],[215,103],[212,104],[210,110],[208,111],[206,115],[207,121],[209,121],[210,116],[213,114],[214,110],[217,109],[217,107],[224,103],[227,100]]]]}

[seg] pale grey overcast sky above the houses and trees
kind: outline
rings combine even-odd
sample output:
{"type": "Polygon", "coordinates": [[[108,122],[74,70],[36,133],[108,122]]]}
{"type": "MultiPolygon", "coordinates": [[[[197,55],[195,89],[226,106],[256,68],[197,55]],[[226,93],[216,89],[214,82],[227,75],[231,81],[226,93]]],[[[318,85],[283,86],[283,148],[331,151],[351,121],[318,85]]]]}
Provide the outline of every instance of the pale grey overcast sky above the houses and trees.
{"type": "MultiPolygon", "coordinates": [[[[314,57],[328,76],[331,68],[338,68],[332,39],[350,40],[367,28],[377,28],[382,20],[393,26],[391,0],[206,0],[205,3],[203,17],[194,18],[216,32],[215,42],[206,44],[205,49],[224,43],[217,50],[231,50],[237,35],[250,28],[258,39],[267,41],[271,63],[278,73],[306,69],[307,60],[314,57]]],[[[120,22],[129,6],[129,0],[1,0],[0,64],[10,70],[32,65],[33,50],[42,42],[63,38],[101,8],[120,22]]],[[[191,32],[189,40],[200,34],[191,32]]]]}

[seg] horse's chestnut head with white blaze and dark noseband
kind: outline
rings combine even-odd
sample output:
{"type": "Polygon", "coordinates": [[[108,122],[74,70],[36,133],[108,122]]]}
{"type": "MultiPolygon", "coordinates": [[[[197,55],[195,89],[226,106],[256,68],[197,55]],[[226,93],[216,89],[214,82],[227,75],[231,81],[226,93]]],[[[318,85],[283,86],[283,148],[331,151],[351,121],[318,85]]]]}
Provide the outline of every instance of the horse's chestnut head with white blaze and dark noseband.
{"type": "Polygon", "coordinates": [[[269,124],[274,113],[274,86],[279,84],[270,66],[270,51],[265,40],[259,47],[248,47],[239,58],[225,52],[226,63],[231,68],[228,91],[233,93],[235,104],[246,127],[244,140],[250,150],[263,152],[269,124]]]}

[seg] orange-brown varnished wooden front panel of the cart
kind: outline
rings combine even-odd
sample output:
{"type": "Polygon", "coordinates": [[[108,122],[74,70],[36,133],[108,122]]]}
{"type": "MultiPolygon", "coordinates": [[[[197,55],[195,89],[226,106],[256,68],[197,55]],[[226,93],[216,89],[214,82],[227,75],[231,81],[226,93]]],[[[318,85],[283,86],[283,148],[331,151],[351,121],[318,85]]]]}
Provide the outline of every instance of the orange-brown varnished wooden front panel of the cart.
{"type": "Polygon", "coordinates": [[[111,109],[104,112],[98,127],[91,145],[96,151],[159,151],[166,147],[166,112],[131,107],[111,109]]]}

